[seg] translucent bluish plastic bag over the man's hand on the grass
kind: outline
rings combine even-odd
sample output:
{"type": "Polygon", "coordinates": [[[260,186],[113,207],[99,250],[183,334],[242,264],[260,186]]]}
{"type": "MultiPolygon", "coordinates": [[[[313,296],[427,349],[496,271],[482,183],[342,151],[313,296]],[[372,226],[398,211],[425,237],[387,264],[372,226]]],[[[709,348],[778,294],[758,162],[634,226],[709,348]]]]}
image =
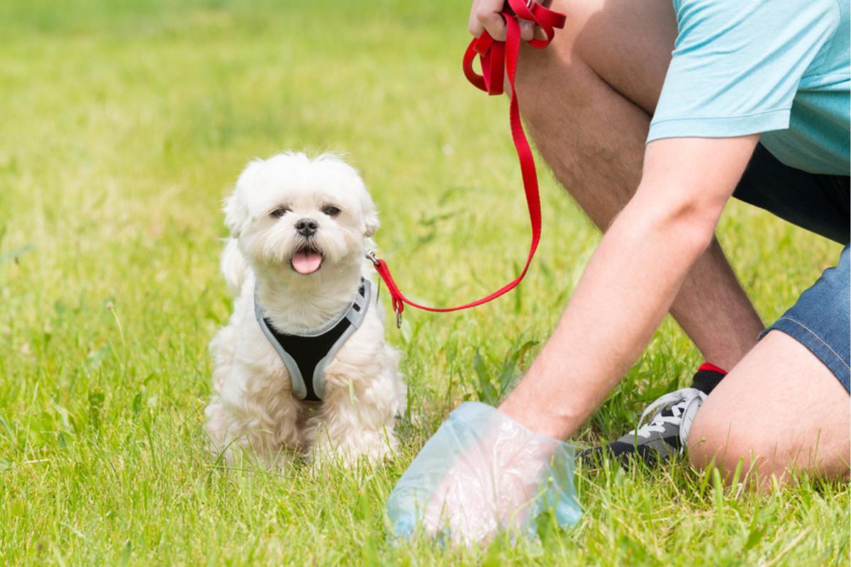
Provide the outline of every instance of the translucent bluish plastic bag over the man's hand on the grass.
{"type": "Polygon", "coordinates": [[[387,501],[392,536],[414,536],[421,526],[465,544],[501,530],[534,539],[534,520],[549,511],[565,527],[582,514],[574,447],[478,402],[449,414],[387,501]]]}

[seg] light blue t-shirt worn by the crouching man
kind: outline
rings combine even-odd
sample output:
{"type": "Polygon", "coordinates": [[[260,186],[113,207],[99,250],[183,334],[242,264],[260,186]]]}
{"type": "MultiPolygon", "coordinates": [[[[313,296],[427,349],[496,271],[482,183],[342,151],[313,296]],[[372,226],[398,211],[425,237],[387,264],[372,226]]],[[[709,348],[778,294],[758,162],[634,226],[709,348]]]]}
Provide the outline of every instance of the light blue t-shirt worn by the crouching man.
{"type": "Polygon", "coordinates": [[[848,175],[849,0],[673,0],[648,142],[762,133],[780,162],[848,175]]]}

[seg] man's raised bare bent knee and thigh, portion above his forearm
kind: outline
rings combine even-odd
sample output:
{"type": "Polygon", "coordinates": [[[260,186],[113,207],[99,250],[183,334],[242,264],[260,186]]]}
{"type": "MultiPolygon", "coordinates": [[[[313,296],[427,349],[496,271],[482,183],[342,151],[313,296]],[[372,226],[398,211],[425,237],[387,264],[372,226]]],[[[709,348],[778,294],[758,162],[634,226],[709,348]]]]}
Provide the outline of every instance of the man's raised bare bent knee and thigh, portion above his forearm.
{"type": "Polygon", "coordinates": [[[556,0],[567,22],[545,49],[523,44],[517,95],[559,181],[605,228],[641,178],[650,113],[677,37],[670,0],[556,0]]]}

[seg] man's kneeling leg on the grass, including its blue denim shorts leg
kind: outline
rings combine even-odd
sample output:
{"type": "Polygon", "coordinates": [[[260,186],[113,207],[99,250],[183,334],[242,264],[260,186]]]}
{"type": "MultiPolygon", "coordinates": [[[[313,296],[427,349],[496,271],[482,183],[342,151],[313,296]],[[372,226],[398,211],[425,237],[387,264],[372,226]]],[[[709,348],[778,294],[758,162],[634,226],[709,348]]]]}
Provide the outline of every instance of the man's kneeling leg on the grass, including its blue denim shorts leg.
{"type": "Polygon", "coordinates": [[[789,468],[848,476],[851,459],[851,261],[836,267],[769,327],[713,390],[688,434],[698,467],[744,459],[761,482],[789,468]]]}

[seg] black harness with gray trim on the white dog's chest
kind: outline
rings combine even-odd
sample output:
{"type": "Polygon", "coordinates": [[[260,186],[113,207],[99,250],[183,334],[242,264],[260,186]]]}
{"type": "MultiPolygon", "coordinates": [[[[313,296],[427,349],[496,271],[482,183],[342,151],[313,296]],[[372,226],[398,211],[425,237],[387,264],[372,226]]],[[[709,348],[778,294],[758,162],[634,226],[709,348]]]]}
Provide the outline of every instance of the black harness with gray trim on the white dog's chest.
{"type": "Polygon", "coordinates": [[[273,349],[283,360],[293,383],[293,395],[299,400],[321,402],[325,397],[325,367],[334,358],[351,333],[363,323],[372,297],[372,284],[361,278],[361,286],[349,309],[338,319],[306,335],[278,332],[266,317],[254,289],[254,316],[273,349]]]}

